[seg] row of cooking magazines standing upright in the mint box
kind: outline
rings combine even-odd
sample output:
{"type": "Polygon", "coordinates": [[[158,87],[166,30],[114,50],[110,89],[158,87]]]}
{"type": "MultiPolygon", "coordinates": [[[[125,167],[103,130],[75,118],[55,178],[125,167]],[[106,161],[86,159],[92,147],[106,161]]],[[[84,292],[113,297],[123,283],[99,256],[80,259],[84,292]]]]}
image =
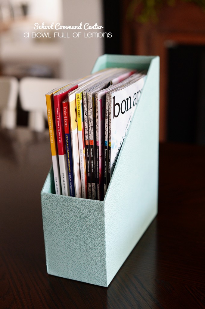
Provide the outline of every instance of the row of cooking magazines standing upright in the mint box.
{"type": "Polygon", "coordinates": [[[56,194],[104,200],[145,79],[109,68],[46,94],[56,194]]]}

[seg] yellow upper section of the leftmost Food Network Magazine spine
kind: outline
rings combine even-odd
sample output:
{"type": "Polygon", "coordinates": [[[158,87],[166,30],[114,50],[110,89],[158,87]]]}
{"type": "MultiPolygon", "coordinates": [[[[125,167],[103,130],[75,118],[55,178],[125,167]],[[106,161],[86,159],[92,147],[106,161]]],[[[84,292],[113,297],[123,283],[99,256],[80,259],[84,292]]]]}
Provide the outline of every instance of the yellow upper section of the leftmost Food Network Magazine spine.
{"type": "Polygon", "coordinates": [[[56,133],[55,133],[55,116],[53,110],[53,95],[46,95],[46,106],[48,115],[48,129],[51,144],[51,155],[58,155],[56,133]]]}

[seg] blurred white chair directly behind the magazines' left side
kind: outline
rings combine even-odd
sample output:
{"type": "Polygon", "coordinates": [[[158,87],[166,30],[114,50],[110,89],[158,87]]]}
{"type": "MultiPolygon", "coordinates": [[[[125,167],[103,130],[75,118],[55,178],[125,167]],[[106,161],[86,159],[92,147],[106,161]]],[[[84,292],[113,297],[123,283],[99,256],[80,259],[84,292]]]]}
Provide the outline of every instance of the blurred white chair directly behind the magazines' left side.
{"type": "Polygon", "coordinates": [[[68,83],[68,80],[58,78],[24,77],[20,80],[20,104],[23,110],[29,112],[28,125],[31,130],[42,132],[45,129],[46,93],[68,83]]]}

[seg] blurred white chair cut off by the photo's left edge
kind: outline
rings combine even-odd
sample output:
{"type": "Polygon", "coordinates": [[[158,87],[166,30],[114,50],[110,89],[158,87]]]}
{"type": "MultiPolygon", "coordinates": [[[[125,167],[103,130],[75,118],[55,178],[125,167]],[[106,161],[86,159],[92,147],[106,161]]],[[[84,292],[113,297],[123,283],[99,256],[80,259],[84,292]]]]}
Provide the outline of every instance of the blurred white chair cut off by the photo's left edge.
{"type": "Polygon", "coordinates": [[[0,76],[1,127],[14,129],[17,120],[18,79],[0,76]]]}

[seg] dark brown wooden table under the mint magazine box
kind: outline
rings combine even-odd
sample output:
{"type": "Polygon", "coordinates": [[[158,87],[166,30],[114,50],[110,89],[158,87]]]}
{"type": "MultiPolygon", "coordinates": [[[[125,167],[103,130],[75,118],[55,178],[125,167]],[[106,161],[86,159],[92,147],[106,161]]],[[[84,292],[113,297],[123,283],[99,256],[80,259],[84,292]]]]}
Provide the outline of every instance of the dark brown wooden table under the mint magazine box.
{"type": "Polygon", "coordinates": [[[205,147],[161,144],[158,216],[108,288],[48,275],[48,132],[0,131],[0,308],[205,308],[205,147]]]}

